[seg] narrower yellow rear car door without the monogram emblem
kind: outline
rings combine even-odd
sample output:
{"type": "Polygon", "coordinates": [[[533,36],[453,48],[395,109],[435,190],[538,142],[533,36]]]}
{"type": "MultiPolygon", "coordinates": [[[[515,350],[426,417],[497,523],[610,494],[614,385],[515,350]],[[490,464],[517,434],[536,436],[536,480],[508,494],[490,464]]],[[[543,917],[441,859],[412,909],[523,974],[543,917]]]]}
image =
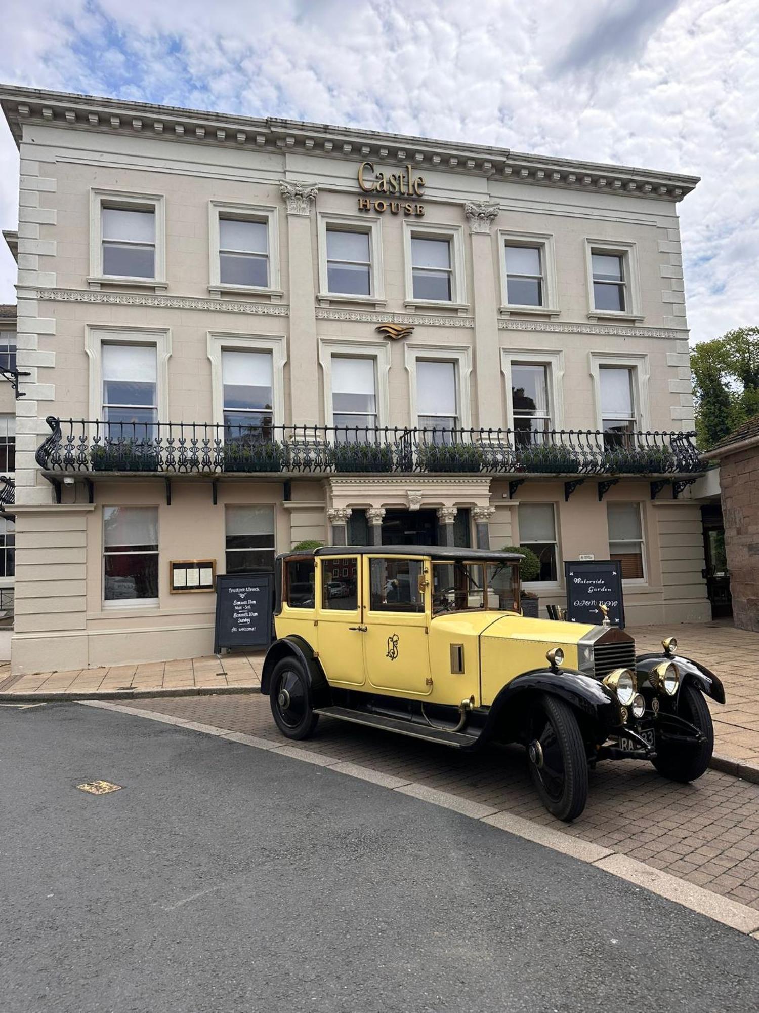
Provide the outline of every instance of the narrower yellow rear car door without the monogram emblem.
{"type": "Polygon", "coordinates": [[[317,642],[330,684],[364,682],[360,557],[317,556],[317,642]]]}

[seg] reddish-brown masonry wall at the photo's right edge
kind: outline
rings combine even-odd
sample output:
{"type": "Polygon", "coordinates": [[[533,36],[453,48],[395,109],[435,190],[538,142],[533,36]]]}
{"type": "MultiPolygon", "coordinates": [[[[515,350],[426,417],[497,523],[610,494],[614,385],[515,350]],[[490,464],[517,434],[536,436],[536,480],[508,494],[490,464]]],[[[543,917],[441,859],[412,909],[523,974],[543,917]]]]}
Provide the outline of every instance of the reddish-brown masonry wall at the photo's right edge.
{"type": "Polygon", "coordinates": [[[720,484],[735,624],[759,631],[759,447],[724,457],[720,484]]]}

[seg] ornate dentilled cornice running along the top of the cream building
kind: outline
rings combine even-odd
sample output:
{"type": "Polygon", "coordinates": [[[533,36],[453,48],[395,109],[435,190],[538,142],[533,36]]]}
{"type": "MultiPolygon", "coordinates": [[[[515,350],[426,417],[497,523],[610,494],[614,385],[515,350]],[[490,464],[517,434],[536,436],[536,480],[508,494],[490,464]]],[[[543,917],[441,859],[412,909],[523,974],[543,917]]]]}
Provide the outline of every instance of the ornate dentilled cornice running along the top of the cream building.
{"type": "Polygon", "coordinates": [[[293,151],[331,158],[342,156],[351,161],[411,163],[420,170],[427,168],[532,185],[608,190],[668,201],[682,200],[698,182],[698,176],[529,155],[509,148],[456,144],[296,120],[262,120],[11,85],[0,85],[0,104],[19,146],[23,124],[36,123],[102,133],[138,133],[191,144],[293,151]]]}

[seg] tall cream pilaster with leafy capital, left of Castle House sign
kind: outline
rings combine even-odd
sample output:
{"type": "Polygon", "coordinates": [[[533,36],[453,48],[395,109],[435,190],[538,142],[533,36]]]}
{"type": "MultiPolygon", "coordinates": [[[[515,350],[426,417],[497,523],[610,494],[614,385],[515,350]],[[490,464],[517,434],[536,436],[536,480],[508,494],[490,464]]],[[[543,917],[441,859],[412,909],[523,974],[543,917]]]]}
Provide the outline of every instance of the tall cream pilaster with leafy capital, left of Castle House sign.
{"type": "MultiPolygon", "coordinates": [[[[319,424],[319,353],[311,234],[316,183],[282,180],[287,209],[290,404],[297,425],[319,424]]],[[[344,544],[344,543],[343,543],[344,544]]]]}

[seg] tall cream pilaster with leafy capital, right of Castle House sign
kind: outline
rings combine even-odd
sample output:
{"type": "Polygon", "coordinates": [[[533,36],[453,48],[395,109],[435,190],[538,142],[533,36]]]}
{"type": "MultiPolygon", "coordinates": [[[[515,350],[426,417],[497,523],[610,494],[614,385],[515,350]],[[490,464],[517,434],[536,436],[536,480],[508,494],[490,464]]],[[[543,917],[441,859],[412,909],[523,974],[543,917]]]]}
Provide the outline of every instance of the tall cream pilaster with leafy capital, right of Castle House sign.
{"type": "Polygon", "coordinates": [[[483,428],[505,425],[498,341],[499,283],[493,257],[491,228],[499,207],[488,201],[468,202],[465,214],[472,236],[472,271],[475,306],[475,373],[477,422],[483,428]]]}

